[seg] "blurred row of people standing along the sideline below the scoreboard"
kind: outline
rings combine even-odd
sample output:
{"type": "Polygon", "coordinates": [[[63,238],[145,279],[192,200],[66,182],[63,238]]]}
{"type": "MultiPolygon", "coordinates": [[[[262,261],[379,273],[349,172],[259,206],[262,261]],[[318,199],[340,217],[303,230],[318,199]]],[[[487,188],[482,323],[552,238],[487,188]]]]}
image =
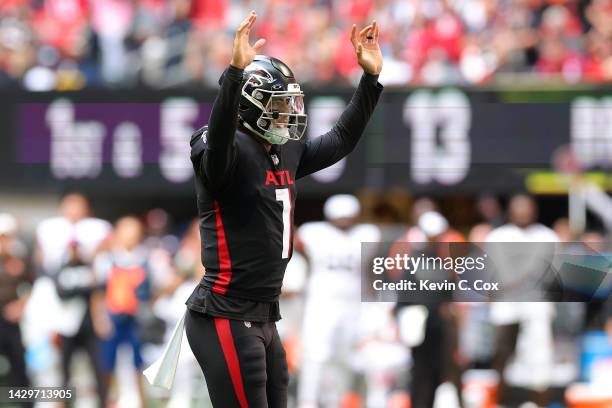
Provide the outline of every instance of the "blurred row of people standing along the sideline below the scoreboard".
{"type": "MultiPolygon", "coordinates": [[[[336,196],[324,206],[325,221],[296,230],[279,322],[291,406],[399,408],[411,398],[412,407],[430,407],[434,395],[442,406],[461,406],[453,387],[462,390],[463,406],[516,402],[516,387],[531,391],[524,400],[543,406],[559,400],[552,389],[577,379],[609,384],[610,367],[595,357],[612,355],[610,300],[360,302],[362,241],[379,241],[383,254],[393,254],[395,245],[422,253],[429,247],[418,243],[487,240],[571,241],[578,253],[605,254],[612,243],[605,231],[574,235],[566,218],[546,227],[537,222],[536,202],[524,195],[509,200],[506,210],[483,196],[474,209],[477,222],[457,228],[429,198],[404,213],[391,204],[380,201],[365,211],[354,197],[336,196]],[[357,224],[364,214],[372,223],[357,224]],[[473,369],[480,371],[468,374],[473,369]]],[[[147,386],[140,374],[160,355],[205,273],[198,222],[172,225],[167,213],[153,209],[111,224],[96,218],[78,193],[66,195],[59,210],[37,226],[34,239],[15,217],[0,214],[0,383],[71,384],[82,403],[130,407],[206,400],[186,342],[170,394],[147,386]]]]}

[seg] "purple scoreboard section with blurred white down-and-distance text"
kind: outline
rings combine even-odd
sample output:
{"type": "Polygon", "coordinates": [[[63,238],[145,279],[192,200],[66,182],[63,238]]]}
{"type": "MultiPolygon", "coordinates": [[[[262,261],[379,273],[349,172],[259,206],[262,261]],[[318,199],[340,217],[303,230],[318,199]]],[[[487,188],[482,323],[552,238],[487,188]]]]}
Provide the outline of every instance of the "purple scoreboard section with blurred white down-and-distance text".
{"type": "Polygon", "coordinates": [[[48,163],[56,179],[93,179],[103,164],[117,177],[136,178],[143,165],[159,166],[169,182],[191,179],[189,139],[209,116],[210,104],[190,98],[161,103],[22,104],[22,163],[48,163]]]}

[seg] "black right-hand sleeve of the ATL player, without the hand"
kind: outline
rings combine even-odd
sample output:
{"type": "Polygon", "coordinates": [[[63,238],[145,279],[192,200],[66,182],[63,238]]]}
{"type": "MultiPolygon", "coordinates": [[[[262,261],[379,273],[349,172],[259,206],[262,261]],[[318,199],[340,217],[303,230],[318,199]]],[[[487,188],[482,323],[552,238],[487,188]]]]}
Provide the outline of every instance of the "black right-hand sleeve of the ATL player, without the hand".
{"type": "Polygon", "coordinates": [[[382,90],[378,75],[363,74],[351,102],[334,127],[324,135],[306,141],[296,178],[329,167],[353,151],[382,90]]]}

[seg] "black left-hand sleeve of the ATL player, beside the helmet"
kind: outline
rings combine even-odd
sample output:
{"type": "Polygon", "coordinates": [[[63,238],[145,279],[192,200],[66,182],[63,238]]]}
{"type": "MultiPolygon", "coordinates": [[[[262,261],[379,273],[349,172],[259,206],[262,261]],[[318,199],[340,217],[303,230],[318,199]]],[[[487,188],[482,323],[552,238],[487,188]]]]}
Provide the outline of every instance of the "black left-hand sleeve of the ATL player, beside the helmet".
{"type": "Polygon", "coordinates": [[[225,71],[208,125],[191,137],[194,170],[211,190],[221,189],[233,169],[242,72],[232,65],[225,71]]]}

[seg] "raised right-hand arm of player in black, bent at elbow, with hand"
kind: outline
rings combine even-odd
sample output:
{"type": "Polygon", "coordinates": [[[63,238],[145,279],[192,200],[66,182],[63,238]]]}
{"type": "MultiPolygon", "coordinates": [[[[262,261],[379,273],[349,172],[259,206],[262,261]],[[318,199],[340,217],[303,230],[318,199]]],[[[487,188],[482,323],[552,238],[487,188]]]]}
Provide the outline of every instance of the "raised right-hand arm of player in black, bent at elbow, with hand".
{"type": "Polygon", "coordinates": [[[331,166],[353,151],[374,112],[382,85],[378,75],[382,69],[382,53],[378,46],[378,23],[374,21],[359,32],[353,24],[351,42],[363,76],[351,102],[338,122],[326,134],[308,140],[300,159],[296,177],[304,177],[331,166]]]}

